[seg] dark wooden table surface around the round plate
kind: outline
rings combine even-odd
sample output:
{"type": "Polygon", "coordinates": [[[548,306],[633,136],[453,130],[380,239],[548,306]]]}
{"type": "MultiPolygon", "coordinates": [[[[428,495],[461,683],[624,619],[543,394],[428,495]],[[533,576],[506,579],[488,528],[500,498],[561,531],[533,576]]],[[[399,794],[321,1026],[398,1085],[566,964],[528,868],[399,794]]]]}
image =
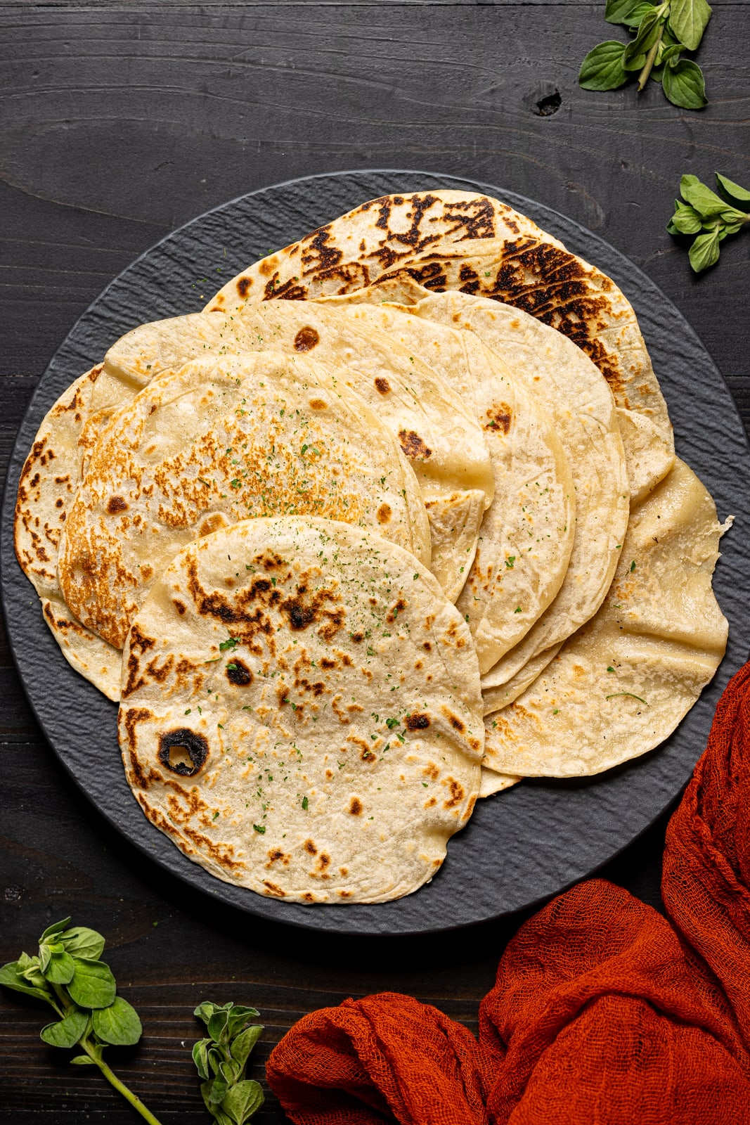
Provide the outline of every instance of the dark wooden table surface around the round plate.
{"type": "MultiPolygon", "coordinates": [[[[750,184],[750,6],[714,2],[701,112],[654,83],[640,98],[580,90],[586,52],[622,37],[603,15],[576,0],[0,3],[3,468],[49,357],[136,254],[233,196],[368,166],[504,184],[595,230],[684,312],[747,424],[750,238],[724,243],[719,269],[696,279],[665,224],[684,172],[750,184]]],[[[35,952],[67,914],[102,930],[145,1026],[117,1069],[163,1122],[208,1120],[189,1053],[205,998],[261,1008],[257,1078],[296,1019],[347,996],[405,991],[476,1028],[523,918],[344,940],[209,903],[124,844],[69,781],[7,644],[0,677],[0,958],[35,952]]],[[[602,872],[657,908],[666,820],[602,872]]],[[[98,1072],[39,1041],[39,1006],[3,993],[0,1008],[0,1122],[141,1120],[98,1072]]],[[[255,1119],[284,1117],[270,1097],[255,1119]]]]}

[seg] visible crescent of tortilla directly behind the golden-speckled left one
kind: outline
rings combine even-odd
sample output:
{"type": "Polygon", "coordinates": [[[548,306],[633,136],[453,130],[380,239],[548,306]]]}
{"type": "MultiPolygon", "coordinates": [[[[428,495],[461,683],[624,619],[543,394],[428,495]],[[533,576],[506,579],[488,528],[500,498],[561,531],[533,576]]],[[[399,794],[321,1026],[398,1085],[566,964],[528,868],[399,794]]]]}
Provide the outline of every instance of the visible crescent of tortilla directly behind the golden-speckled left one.
{"type": "Polygon", "coordinates": [[[433,574],[454,601],[493,498],[493,470],[480,426],[450,384],[418,356],[334,308],[271,302],[234,317],[196,314],[144,324],[118,341],[108,360],[138,375],[150,363],[177,369],[199,356],[269,349],[310,354],[336,368],[397,436],[427,506],[433,574]]]}

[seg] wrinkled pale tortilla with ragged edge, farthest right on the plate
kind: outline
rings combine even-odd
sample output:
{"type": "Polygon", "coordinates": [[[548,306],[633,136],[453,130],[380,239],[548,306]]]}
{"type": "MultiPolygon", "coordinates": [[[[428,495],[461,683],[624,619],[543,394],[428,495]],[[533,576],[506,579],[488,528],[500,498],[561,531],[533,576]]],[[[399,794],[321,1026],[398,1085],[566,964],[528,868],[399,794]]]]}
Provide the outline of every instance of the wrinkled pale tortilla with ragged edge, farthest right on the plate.
{"type": "Polygon", "coordinates": [[[683,461],[633,510],[606,602],[532,686],[485,720],[485,765],[596,774],[662,742],[712,680],[728,624],[711,586],[722,528],[683,461]]]}

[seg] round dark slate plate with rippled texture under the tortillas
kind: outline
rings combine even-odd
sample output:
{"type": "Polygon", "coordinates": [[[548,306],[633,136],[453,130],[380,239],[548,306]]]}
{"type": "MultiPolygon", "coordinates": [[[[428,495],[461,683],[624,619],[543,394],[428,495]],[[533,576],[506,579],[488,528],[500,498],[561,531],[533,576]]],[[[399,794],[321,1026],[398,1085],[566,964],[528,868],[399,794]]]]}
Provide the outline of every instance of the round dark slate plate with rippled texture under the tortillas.
{"type": "Polygon", "coordinates": [[[2,601],[31,706],[65,768],[96,807],[147,856],[192,886],[250,914],[352,934],[428,933],[510,914],[589,875],[642,832],[679,793],[701,755],[714,708],[750,647],[744,600],[750,559],[750,452],[730,392],[711,357],[665,295],[632,262],[577,223],[514,192],[431,172],[362,171],[275,184],[201,215],[148,250],[94,300],[45,371],[21,424],[2,510],[2,601]],[[228,280],[352,207],[390,192],[435,188],[499,196],[595,262],[638,313],[669,404],[679,454],[733,513],[715,591],[730,621],[726,656],[677,731],[643,758],[580,781],[530,781],[479,802],[449,844],[448,861],[416,894],[379,906],[301,907],[213,879],[145,819],[125,781],[116,706],[78,676],[47,631],[12,549],[18,476],[42,417],[109,344],[144,321],[196,312],[228,280]]]}

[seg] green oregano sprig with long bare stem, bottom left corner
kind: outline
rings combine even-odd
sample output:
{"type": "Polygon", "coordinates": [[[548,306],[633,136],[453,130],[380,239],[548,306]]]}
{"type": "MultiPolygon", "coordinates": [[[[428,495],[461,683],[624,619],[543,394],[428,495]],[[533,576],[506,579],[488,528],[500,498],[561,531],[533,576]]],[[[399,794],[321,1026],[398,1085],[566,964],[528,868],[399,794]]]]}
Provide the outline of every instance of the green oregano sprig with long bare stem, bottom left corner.
{"type": "Polygon", "coordinates": [[[135,1008],[117,996],[109,965],[100,961],[105,939],[85,926],[67,928],[70,918],[47,926],[39,938],[39,952],[21,953],[0,969],[0,984],[45,1000],[60,1017],[39,1032],[53,1047],[79,1046],[84,1052],[71,1062],[98,1066],[108,1082],[151,1125],[160,1125],[141,1098],[117,1078],[102,1059],[105,1047],[129,1046],[141,1038],[141,1020],[135,1008]]]}

